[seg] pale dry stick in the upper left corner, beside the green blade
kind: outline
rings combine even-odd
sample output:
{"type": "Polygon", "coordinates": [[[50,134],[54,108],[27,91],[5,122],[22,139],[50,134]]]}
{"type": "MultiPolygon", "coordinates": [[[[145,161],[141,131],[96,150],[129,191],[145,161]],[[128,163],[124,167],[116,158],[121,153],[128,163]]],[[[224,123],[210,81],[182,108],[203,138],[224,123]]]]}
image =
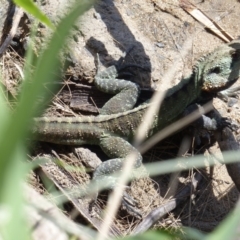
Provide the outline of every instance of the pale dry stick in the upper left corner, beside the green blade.
{"type": "Polygon", "coordinates": [[[4,42],[2,43],[2,45],[0,47],[0,57],[6,51],[7,47],[9,46],[10,42],[12,41],[14,35],[16,34],[18,24],[19,24],[22,16],[23,16],[23,10],[21,8],[16,7],[14,17],[13,17],[12,28],[11,28],[8,36],[6,37],[6,39],[4,40],[4,42]]]}

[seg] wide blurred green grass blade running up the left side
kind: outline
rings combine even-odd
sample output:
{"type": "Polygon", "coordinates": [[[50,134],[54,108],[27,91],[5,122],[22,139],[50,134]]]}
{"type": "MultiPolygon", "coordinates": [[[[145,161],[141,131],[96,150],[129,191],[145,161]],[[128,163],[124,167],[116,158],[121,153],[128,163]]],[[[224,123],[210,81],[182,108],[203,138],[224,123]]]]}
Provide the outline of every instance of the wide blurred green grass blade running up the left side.
{"type": "MultiPolygon", "coordinates": [[[[78,2],[78,1],[77,1],[78,2]]],[[[55,80],[54,70],[59,64],[58,56],[76,19],[93,4],[93,1],[81,1],[72,8],[56,26],[48,48],[39,57],[35,71],[31,78],[23,81],[19,102],[13,112],[10,112],[4,100],[3,90],[0,95],[1,123],[0,123],[0,215],[1,235],[3,239],[29,239],[28,225],[24,218],[24,200],[22,185],[27,174],[27,149],[25,139],[28,136],[31,119],[42,106],[38,99],[44,92],[43,85],[49,80],[55,80]]],[[[16,1],[26,7],[28,1],[16,1]]],[[[35,12],[38,20],[44,20],[41,14],[36,14],[34,5],[27,9],[35,12]]],[[[39,11],[38,11],[39,13],[39,11]]],[[[49,24],[48,24],[49,25],[49,24]]],[[[30,66],[27,63],[27,66],[30,66]]],[[[25,73],[25,76],[30,74],[25,73]]],[[[44,96],[46,99],[49,96],[44,96]]]]}

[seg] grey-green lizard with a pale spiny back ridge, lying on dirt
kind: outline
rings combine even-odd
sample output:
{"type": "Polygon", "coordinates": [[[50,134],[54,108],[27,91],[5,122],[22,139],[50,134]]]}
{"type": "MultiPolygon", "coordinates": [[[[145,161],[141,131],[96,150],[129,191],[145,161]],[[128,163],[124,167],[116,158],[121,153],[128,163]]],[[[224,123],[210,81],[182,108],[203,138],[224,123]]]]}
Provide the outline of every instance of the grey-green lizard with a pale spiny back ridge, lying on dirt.
{"type": "MultiPolygon", "coordinates": [[[[167,90],[146,138],[178,120],[189,106],[203,96],[209,99],[218,92],[224,95],[230,93],[226,89],[236,82],[239,72],[239,41],[222,45],[200,58],[190,76],[167,90]]],[[[97,70],[95,86],[100,91],[114,94],[100,109],[98,116],[39,117],[34,119],[32,128],[33,134],[40,141],[65,145],[99,145],[110,159],[97,167],[93,174],[95,181],[121,170],[130,152],[135,152],[137,156],[135,168],[142,163],[142,156],[131,145],[131,141],[143,121],[144,113],[152,103],[146,101],[134,108],[140,88],[136,83],[118,79],[118,73],[116,66],[110,66],[103,71],[99,68],[97,70]]],[[[208,119],[203,124],[209,130],[219,127],[215,119],[208,119]]],[[[112,187],[114,185],[113,180],[112,187]]]]}

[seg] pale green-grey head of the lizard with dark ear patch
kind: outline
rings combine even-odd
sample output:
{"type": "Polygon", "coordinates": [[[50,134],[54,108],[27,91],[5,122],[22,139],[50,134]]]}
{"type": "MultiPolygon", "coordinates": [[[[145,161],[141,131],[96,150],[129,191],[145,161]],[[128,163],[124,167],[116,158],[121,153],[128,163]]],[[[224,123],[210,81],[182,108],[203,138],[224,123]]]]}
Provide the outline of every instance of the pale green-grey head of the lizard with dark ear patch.
{"type": "Polygon", "coordinates": [[[201,58],[195,70],[202,91],[219,92],[230,87],[240,75],[240,42],[217,48],[201,58]]]}

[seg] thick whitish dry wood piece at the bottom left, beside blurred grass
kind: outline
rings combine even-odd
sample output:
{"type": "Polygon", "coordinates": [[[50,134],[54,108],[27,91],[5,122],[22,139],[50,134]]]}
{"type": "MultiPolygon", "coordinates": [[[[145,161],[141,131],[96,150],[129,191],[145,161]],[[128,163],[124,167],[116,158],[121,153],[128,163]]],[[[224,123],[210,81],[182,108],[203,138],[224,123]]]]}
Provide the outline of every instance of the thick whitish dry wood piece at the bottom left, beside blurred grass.
{"type": "Polygon", "coordinates": [[[26,210],[30,220],[29,223],[34,226],[32,235],[35,237],[36,235],[42,235],[48,236],[48,239],[69,239],[67,232],[77,236],[79,239],[95,239],[95,231],[74,223],[58,207],[32,187],[24,185],[24,194],[27,200],[26,210]]]}

